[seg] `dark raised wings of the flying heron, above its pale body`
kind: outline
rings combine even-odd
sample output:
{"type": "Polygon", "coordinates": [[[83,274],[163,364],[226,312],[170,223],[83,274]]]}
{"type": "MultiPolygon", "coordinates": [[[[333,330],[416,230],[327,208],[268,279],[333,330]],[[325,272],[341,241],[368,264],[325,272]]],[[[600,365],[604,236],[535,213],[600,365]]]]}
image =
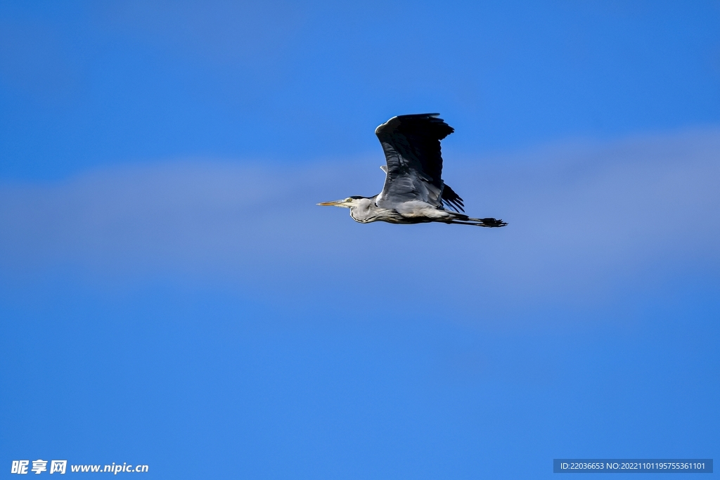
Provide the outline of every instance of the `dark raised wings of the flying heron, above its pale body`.
{"type": "Polygon", "coordinates": [[[387,161],[378,207],[392,209],[403,201],[420,200],[435,207],[445,201],[462,209],[462,199],[448,186],[443,188],[440,140],[455,130],[438,115],[400,115],[375,130],[387,161]]]}

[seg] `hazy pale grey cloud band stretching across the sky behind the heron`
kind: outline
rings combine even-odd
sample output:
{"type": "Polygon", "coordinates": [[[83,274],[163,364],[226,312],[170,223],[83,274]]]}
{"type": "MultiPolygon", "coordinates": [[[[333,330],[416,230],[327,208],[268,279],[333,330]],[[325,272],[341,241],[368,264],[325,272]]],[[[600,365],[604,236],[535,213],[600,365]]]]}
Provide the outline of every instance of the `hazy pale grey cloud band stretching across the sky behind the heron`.
{"type": "Polygon", "coordinates": [[[502,217],[500,230],[359,225],[315,206],[377,193],[377,158],[303,168],[188,160],[5,184],[0,265],[259,288],[366,279],[395,294],[588,295],[618,277],[720,261],[719,151],[720,130],[706,130],[448,160],[446,181],[469,214],[502,217]]]}

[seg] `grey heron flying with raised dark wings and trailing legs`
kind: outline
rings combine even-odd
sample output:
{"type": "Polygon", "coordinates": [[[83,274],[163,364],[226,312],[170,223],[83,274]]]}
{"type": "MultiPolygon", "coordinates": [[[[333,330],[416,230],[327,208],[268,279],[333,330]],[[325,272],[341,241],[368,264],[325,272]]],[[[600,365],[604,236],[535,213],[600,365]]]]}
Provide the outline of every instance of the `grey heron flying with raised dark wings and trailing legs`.
{"type": "Polygon", "coordinates": [[[360,223],[508,225],[494,218],[468,217],[464,214],[462,198],[442,180],[440,140],[455,130],[438,118],[439,115],[399,115],[377,127],[375,135],[387,163],[380,167],[385,172],[385,184],[379,194],[348,196],[318,205],[348,208],[350,216],[360,223]]]}

